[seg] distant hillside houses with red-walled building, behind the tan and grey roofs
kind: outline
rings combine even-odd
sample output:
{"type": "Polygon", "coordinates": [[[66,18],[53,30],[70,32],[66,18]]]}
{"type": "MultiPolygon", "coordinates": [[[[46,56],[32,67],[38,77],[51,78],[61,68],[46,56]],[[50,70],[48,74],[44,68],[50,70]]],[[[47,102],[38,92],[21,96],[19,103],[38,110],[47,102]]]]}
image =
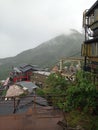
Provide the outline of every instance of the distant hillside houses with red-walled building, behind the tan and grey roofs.
{"type": "Polygon", "coordinates": [[[45,80],[51,73],[61,73],[61,75],[65,76],[65,78],[70,79],[72,78],[71,76],[75,75],[75,73],[82,67],[82,63],[80,63],[79,58],[67,58],[65,64],[67,63],[69,63],[69,65],[63,65],[64,63],[61,63],[60,61],[60,63],[51,68],[50,71],[46,71],[45,69],[41,69],[38,66],[29,64],[13,67],[12,71],[9,73],[9,77],[7,77],[5,81],[2,80],[1,82],[3,86],[7,86],[20,81],[31,81],[38,86],[45,87],[45,80]]]}

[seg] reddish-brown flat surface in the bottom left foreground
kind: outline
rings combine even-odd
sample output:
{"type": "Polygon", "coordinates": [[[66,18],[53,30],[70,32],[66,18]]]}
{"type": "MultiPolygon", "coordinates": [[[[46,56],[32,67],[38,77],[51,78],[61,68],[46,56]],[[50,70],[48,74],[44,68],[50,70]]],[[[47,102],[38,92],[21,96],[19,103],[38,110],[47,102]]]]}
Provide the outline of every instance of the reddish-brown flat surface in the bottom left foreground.
{"type": "Polygon", "coordinates": [[[62,130],[62,113],[52,107],[29,107],[25,113],[0,116],[0,130],[62,130]]]}

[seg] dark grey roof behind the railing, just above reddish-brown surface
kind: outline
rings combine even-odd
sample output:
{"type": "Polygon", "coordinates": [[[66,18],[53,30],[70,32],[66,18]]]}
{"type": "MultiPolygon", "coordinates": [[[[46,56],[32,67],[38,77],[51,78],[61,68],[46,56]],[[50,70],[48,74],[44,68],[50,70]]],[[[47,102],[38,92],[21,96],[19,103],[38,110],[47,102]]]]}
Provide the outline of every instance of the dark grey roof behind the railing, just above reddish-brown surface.
{"type": "MultiPolygon", "coordinates": [[[[47,101],[38,96],[28,96],[20,98],[20,103],[15,113],[24,113],[29,107],[48,106],[47,101]]],[[[0,115],[8,115],[14,112],[14,100],[1,100],[0,101],[0,115]]]]}

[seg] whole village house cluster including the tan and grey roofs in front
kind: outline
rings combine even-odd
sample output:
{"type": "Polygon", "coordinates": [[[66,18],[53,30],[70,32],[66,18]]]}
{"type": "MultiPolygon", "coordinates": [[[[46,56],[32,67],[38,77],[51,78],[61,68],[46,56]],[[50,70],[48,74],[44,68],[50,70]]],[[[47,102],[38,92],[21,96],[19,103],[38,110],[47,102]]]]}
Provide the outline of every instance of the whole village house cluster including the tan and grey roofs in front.
{"type": "Polygon", "coordinates": [[[29,64],[24,64],[19,67],[13,67],[11,72],[9,73],[9,77],[7,77],[6,80],[1,81],[0,92],[1,94],[3,93],[3,91],[6,92],[6,94],[4,93],[4,95],[1,96],[15,97],[17,95],[19,96],[23,93],[27,93],[27,91],[27,94],[30,94],[32,92],[34,93],[34,89],[38,87],[47,87],[46,80],[52,73],[60,73],[63,77],[65,77],[66,80],[74,81],[75,74],[81,69],[81,67],[82,62],[80,62],[79,58],[67,58],[66,62],[62,61],[62,63],[60,60],[60,62],[53,68],[51,68],[50,71],[39,68],[36,65],[29,64]],[[17,92],[13,92],[16,90],[12,89],[15,87],[15,85],[19,89],[17,90],[17,92]]]}

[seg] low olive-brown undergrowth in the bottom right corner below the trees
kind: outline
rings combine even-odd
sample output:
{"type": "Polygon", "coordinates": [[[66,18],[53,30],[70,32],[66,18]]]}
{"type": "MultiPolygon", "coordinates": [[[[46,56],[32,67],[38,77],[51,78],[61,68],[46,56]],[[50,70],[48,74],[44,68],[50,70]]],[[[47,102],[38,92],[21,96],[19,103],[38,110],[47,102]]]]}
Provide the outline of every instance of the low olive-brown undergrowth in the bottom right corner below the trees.
{"type": "Polygon", "coordinates": [[[98,115],[93,116],[79,111],[70,111],[65,116],[71,127],[78,125],[83,130],[98,130],[98,115]]]}

